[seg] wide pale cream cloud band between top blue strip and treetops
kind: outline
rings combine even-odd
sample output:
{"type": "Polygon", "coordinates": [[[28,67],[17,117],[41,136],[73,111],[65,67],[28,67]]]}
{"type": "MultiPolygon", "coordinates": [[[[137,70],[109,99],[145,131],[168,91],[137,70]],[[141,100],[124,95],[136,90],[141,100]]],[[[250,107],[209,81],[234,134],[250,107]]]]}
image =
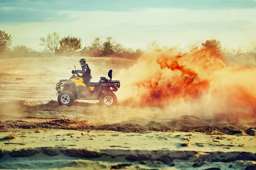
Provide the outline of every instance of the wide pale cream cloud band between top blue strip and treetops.
{"type": "MultiPolygon", "coordinates": [[[[254,9],[32,10],[24,12],[23,16],[12,13],[9,17],[16,17],[16,23],[3,22],[1,18],[0,30],[4,29],[12,34],[13,45],[24,43],[34,49],[40,48],[40,37],[54,31],[59,32],[61,36],[71,34],[81,37],[83,45],[89,45],[95,37],[105,39],[112,36],[132,48],[145,46],[153,40],[163,45],[175,45],[213,38],[236,47],[256,39],[254,9]],[[37,20],[34,20],[34,17],[37,20]]],[[[5,20],[8,20],[7,18],[5,20]]]]}

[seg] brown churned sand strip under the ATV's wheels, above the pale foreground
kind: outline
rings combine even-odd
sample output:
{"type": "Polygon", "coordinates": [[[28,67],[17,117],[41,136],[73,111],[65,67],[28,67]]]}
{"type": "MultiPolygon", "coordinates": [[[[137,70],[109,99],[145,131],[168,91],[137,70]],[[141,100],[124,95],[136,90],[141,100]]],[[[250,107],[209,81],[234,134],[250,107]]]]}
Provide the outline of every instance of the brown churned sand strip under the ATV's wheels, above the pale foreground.
{"type": "Polygon", "coordinates": [[[123,132],[184,131],[206,134],[255,136],[255,120],[236,122],[235,118],[219,114],[172,115],[159,108],[111,108],[96,103],[76,102],[71,107],[60,106],[55,100],[17,101],[0,104],[0,129],[57,128],[114,130],[123,132]],[[138,114],[139,113],[139,114],[138,114]]]}

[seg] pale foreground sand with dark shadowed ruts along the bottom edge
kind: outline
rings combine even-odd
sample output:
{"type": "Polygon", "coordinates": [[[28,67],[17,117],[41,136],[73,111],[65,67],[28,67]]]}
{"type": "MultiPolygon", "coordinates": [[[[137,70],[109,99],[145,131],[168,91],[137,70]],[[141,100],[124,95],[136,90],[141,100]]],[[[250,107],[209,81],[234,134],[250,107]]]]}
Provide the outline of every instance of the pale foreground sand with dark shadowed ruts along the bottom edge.
{"type": "Polygon", "coordinates": [[[0,138],[3,169],[256,168],[256,138],[252,136],[15,130],[2,131],[0,138]]]}

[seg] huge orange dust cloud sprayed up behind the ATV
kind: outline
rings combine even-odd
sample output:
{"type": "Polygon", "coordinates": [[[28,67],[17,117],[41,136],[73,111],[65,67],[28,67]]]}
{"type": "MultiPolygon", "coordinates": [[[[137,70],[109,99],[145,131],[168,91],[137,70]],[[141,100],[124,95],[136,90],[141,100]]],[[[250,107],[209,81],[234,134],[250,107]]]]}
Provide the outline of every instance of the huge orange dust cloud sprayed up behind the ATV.
{"type": "Polygon", "coordinates": [[[229,66],[215,51],[154,50],[118,77],[117,94],[123,105],[180,114],[256,117],[256,68],[229,66]]]}

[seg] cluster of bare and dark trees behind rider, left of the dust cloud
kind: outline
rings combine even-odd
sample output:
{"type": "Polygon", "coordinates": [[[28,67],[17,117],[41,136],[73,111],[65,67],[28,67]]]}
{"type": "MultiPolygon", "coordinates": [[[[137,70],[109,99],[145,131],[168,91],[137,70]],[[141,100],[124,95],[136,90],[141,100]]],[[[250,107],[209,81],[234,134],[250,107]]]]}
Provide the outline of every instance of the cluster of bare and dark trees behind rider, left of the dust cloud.
{"type": "Polygon", "coordinates": [[[137,48],[137,50],[125,48],[119,42],[113,40],[112,37],[107,37],[104,42],[96,37],[90,45],[84,47],[81,45],[81,38],[71,36],[60,38],[57,32],[48,34],[47,37],[41,37],[40,40],[40,45],[56,56],[137,58],[143,54],[140,48],[137,48]]]}

